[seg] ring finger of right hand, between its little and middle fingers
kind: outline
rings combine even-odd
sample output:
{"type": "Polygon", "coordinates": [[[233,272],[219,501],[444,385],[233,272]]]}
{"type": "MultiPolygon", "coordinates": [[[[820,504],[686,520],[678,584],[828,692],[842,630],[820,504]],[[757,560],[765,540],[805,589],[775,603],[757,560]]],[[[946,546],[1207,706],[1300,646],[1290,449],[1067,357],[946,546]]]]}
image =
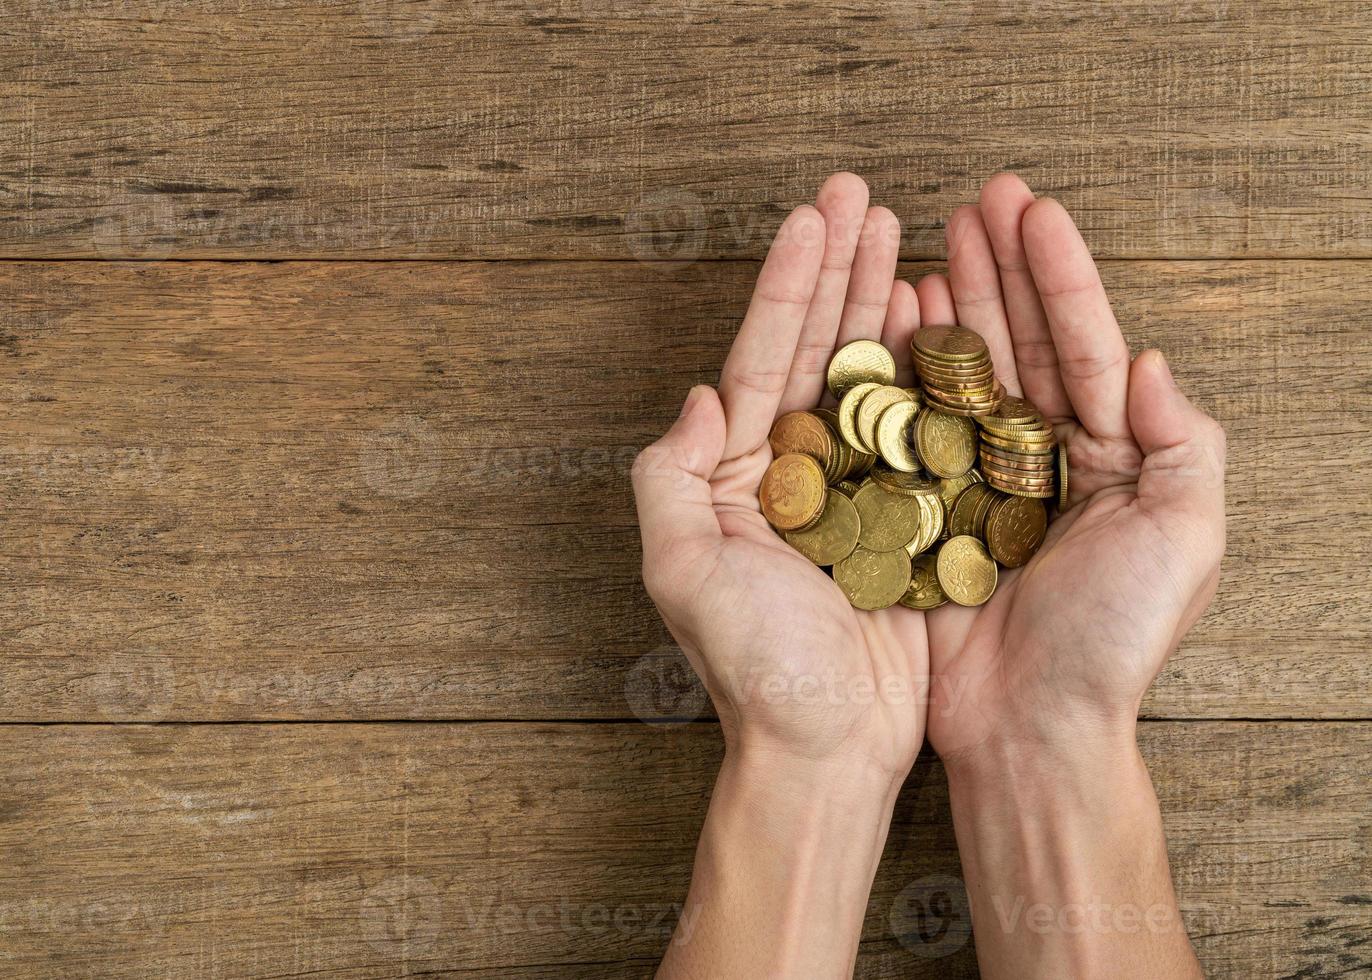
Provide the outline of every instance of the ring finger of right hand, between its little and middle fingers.
{"type": "Polygon", "coordinates": [[[944,229],[948,242],[948,284],[958,310],[958,323],[981,334],[991,350],[996,377],[1013,395],[1022,394],[1015,372],[1015,349],[1010,342],[1006,303],[1000,295],[1000,270],[991,239],[975,205],[959,207],[944,229]]]}

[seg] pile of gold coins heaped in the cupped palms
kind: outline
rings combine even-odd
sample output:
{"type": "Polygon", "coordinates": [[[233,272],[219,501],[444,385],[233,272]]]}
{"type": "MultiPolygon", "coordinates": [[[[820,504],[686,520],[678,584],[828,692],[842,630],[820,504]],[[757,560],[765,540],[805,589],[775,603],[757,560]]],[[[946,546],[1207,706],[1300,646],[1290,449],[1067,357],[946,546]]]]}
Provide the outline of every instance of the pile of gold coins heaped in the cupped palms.
{"type": "Polygon", "coordinates": [[[1043,544],[1043,498],[1066,506],[1066,452],[1033,405],[1006,395],[975,332],[925,327],[910,353],[914,388],[895,384],[879,343],[834,354],[837,408],[772,425],[763,515],[859,609],[980,605],[997,565],[1043,544]]]}

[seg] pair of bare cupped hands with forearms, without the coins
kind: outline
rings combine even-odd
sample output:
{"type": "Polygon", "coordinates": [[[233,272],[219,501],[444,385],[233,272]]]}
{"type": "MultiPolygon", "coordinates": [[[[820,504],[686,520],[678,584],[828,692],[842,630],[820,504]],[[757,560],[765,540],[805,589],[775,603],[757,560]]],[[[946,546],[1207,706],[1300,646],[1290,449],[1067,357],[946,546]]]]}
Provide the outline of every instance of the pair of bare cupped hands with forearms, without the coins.
{"type": "Polygon", "coordinates": [[[645,582],[726,738],[660,976],[851,975],[926,722],[985,976],[1199,976],[1133,734],[1214,592],[1222,432],[1161,354],[1131,362],[1070,217],[1018,178],[949,221],[948,279],[893,280],[897,243],[860,180],[830,178],[778,233],[718,393],[694,388],[635,465],[645,582]],[[767,432],[819,402],[836,347],[908,364],[921,323],[954,320],[1055,423],[1072,505],[986,605],[859,612],[761,517],[767,432]]]}

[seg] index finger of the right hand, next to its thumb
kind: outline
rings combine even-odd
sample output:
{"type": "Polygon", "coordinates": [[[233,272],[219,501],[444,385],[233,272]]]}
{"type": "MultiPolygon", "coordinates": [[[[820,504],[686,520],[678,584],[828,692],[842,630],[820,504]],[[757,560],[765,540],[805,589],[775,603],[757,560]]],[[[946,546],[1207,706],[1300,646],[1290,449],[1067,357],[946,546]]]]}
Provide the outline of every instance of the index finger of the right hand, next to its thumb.
{"type": "Polygon", "coordinates": [[[1129,438],[1129,347],[1081,232],[1051,198],[1029,206],[1022,229],[1073,413],[1092,435],[1129,438]]]}

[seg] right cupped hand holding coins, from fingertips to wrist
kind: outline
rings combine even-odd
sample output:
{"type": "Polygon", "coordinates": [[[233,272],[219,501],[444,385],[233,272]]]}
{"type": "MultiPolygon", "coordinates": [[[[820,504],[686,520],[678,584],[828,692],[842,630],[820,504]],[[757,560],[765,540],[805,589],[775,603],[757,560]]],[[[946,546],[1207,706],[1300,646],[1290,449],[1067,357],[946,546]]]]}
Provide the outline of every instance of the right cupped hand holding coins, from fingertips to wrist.
{"type": "Polygon", "coordinates": [[[1159,351],[1131,361],[1055,200],[1002,174],[947,236],[948,280],[918,287],[923,320],[981,334],[1010,394],[1054,423],[1070,505],[984,607],[930,614],[930,741],[948,762],[1004,741],[1132,737],[1144,690],[1214,594],[1224,431],[1159,351]]]}

